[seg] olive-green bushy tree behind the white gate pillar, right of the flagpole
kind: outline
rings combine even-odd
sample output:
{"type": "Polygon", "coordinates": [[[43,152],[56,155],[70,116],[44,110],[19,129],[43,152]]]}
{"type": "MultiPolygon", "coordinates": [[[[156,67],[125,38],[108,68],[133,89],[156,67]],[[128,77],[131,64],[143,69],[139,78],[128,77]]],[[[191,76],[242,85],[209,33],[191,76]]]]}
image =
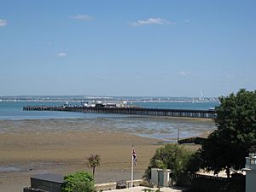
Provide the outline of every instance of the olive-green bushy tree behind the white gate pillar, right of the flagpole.
{"type": "MultiPolygon", "coordinates": [[[[198,169],[196,169],[195,166],[198,165],[198,163],[195,162],[198,160],[198,158],[195,158],[195,156],[197,157],[198,155],[195,154],[195,152],[183,148],[181,145],[166,144],[164,147],[156,150],[154,156],[150,160],[150,166],[148,166],[144,177],[150,177],[151,168],[171,169],[173,172],[173,179],[177,179],[184,172],[196,172],[198,169]],[[191,169],[190,166],[194,166],[193,169],[195,170],[191,169]]],[[[198,167],[199,166],[197,166],[197,168],[198,167]]]]}

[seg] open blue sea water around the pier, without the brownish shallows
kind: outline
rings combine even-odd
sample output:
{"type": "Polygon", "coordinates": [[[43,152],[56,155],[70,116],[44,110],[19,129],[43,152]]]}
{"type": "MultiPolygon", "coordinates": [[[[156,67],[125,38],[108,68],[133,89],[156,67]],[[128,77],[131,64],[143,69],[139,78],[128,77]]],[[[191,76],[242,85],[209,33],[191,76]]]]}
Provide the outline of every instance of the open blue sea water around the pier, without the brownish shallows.
{"type": "MultiPolygon", "coordinates": [[[[65,102],[0,102],[0,119],[73,119],[119,116],[115,114],[71,113],[52,111],[23,111],[26,105],[60,106],[65,102]]],[[[70,105],[80,105],[80,102],[69,102],[70,105]]],[[[208,109],[218,105],[218,102],[128,102],[143,108],[174,108],[174,109],[208,109]]]]}

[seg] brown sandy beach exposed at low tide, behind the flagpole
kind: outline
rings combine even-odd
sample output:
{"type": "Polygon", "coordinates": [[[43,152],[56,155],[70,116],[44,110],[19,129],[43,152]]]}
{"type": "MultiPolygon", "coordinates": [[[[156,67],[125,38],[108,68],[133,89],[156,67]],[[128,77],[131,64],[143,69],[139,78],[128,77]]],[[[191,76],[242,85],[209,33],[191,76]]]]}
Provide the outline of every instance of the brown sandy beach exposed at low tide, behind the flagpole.
{"type": "Polygon", "coordinates": [[[39,173],[90,172],[85,165],[90,154],[100,154],[102,159],[96,167],[96,183],[129,180],[132,145],[137,153],[134,178],[139,179],[160,148],[156,143],[162,142],[138,137],[137,129],[116,131],[96,124],[95,129],[82,130],[83,125],[55,119],[1,121],[0,191],[22,191],[23,186],[30,186],[30,177],[39,173]]]}

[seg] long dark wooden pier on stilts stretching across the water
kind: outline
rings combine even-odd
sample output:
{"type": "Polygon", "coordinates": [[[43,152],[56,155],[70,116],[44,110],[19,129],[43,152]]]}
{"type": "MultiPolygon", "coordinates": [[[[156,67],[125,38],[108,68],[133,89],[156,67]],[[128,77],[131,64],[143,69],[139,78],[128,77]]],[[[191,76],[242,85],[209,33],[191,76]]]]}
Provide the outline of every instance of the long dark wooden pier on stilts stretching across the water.
{"type": "Polygon", "coordinates": [[[67,111],[81,113],[116,113],[131,115],[151,115],[166,117],[188,117],[213,119],[216,113],[213,110],[192,110],[192,109],[163,109],[163,108],[90,108],[82,106],[26,106],[25,111],[67,111]]]}

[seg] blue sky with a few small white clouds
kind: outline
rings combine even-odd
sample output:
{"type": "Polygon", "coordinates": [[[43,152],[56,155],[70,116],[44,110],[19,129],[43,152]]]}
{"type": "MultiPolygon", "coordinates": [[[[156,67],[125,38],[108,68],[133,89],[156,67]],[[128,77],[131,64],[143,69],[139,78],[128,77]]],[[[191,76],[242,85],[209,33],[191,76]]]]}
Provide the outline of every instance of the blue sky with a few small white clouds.
{"type": "Polygon", "coordinates": [[[255,0],[0,0],[0,96],[256,90],[255,0]]]}

